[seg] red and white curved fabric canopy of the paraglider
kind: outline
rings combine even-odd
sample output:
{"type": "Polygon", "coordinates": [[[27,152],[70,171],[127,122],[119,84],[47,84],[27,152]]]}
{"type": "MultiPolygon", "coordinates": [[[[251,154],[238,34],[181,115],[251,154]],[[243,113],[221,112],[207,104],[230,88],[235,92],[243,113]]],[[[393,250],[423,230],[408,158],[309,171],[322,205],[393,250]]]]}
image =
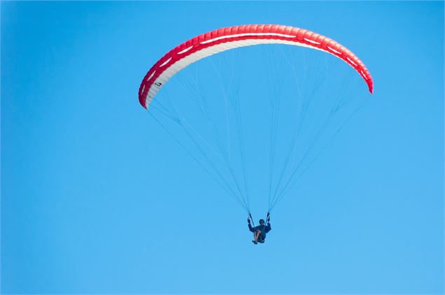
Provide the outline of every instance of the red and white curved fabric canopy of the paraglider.
{"type": "Polygon", "coordinates": [[[329,52],[352,66],[367,83],[369,92],[373,92],[374,85],[366,66],[348,48],[331,38],[279,24],[247,24],[201,34],[170,50],[146,73],[139,87],[139,102],[144,108],[149,108],[160,87],[174,74],[199,59],[233,48],[265,43],[305,46],[329,52]]]}

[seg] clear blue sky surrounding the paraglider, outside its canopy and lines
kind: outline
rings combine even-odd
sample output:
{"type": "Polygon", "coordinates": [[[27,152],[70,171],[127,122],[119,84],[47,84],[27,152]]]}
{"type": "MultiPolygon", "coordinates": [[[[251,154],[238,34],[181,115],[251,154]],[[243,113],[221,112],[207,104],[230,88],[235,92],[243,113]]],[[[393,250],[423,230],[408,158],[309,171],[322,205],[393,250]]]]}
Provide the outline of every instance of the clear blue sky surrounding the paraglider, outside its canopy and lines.
{"type": "Polygon", "coordinates": [[[2,1],[1,293],[443,294],[444,3],[2,1]],[[165,52],[250,23],[334,38],[375,84],[256,246],[137,101],[165,52]]]}

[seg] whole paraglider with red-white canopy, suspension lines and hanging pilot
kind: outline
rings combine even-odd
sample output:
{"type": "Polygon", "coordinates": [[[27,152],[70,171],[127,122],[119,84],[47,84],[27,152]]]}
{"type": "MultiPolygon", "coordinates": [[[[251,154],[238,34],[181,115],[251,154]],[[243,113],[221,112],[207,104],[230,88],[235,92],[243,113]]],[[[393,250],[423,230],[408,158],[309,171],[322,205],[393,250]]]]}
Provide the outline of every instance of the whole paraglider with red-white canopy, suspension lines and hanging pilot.
{"type": "MultiPolygon", "coordinates": [[[[158,92],[160,92],[160,89],[165,87],[165,84],[175,75],[177,75],[179,71],[182,71],[182,69],[186,68],[187,66],[198,62],[200,59],[205,59],[205,57],[210,57],[211,55],[218,55],[220,52],[231,50],[236,51],[238,48],[245,48],[247,46],[254,47],[254,45],[267,44],[294,45],[300,48],[308,48],[308,50],[327,52],[329,56],[338,57],[338,59],[341,59],[342,62],[352,67],[352,69],[354,69],[366,83],[369,92],[372,94],[374,91],[373,80],[367,67],[354,53],[348,50],[348,48],[345,48],[343,45],[332,40],[331,38],[316,34],[312,31],[278,24],[247,24],[226,27],[191,38],[167,52],[158,60],[158,62],[151,66],[151,69],[149,69],[149,71],[146,73],[139,87],[139,103],[144,108],[149,110],[149,113],[153,119],[156,120],[156,122],[158,122],[160,126],[163,127],[174,138],[174,140],[177,141],[177,143],[179,143],[179,145],[184,147],[184,150],[186,150],[186,152],[189,153],[191,157],[193,157],[193,159],[195,159],[198,164],[200,164],[200,166],[202,166],[205,171],[207,171],[207,173],[209,173],[212,178],[219,183],[219,185],[221,185],[229,196],[232,196],[233,199],[247,211],[247,214],[249,215],[249,230],[254,233],[254,243],[263,243],[266,233],[271,230],[269,213],[271,213],[276,203],[278,203],[278,201],[280,201],[285,194],[289,194],[289,189],[294,185],[294,183],[296,183],[299,177],[306,171],[313,161],[315,161],[322,150],[329,145],[332,138],[338,134],[338,131],[343,128],[346,122],[348,122],[360,108],[350,107],[348,110],[349,115],[345,116],[345,120],[343,120],[343,122],[338,124],[332,123],[335,115],[347,109],[345,106],[348,106],[348,99],[344,99],[341,91],[337,95],[334,89],[332,89],[332,85],[339,85],[338,87],[343,87],[342,83],[346,83],[346,81],[341,80],[339,83],[332,82],[331,84],[327,84],[329,85],[327,86],[329,88],[327,89],[326,93],[332,98],[331,106],[329,106],[329,110],[326,110],[327,118],[326,120],[320,122],[320,124],[310,125],[313,128],[317,127],[317,131],[305,133],[303,130],[303,124],[305,120],[308,120],[308,109],[313,107],[313,97],[317,95],[317,91],[319,91],[320,85],[324,82],[324,77],[326,74],[320,74],[320,77],[317,77],[316,73],[310,73],[310,70],[308,70],[311,65],[310,62],[303,60],[303,64],[299,68],[301,71],[305,71],[302,75],[303,78],[306,76],[308,76],[308,78],[315,76],[315,78],[320,78],[320,81],[315,81],[313,83],[308,82],[306,85],[300,81],[301,79],[298,81],[299,101],[295,104],[296,115],[294,116],[294,120],[289,120],[286,122],[287,125],[289,125],[289,123],[291,125],[294,124],[294,128],[286,137],[288,138],[287,145],[289,146],[289,149],[287,152],[280,152],[283,163],[282,169],[279,171],[280,173],[273,173],[273,166],[277,161],[275,158],[278,149],[276,142],[278,141],[277,130],[278,117],[280,117],[278,115],[280,112],[279,108],[281,107],[291,111],[294,106],[280,106],[279,94],[273,94],[270,97],[271,148],[270,164],[268,169],[269,205],[268,210],[266,211],[268,213],[268,217],[266,217],[268,224],[265,225],[264,220],[262,220],[263,223],[260,223],[259,226],[251,226],[250,224],[252,215],[250,212],[248,188],[249,181],[245,159],[247,157],[246,154],[248,153],[245,152],[245,136],[242,129],[243,121],[240,115],[241,108],[240,100],[238,99],[238,92],[234,91],[228,94],[227,92],[223,91],[224,111],[226,112],[226,116],[224,118],[224,123],[221,124],[223,126],[221,127],[218,125],[217,120],[212,117],[210,112],[211,106],[209,105],[214,103],[214,101],[212,101],[212,103],[207,103],[205,101],[205,95],[200,93],[200,91],[202,91],[200,90],[200,84],[205,86],[207,80],[204,78],[198,81],[195,78],[192,86],[187,85],[186,82],[183,82],[186,88],[191,88],[191,92],[193,92],[194,95],[193,97],[195,97],[193,99],[193,103],[198,106],[198,112],[200,112],[207,121],[208,132],[205,131],[202,134],[196,130],[197,125],[189,123],[184,118],[181,108],[178,108],[172,99],[165,99],[165,101],[162,102],[162,100],[156,96],[158,95],[158,92]],[[306,87],[307,91],[304,92],[301,90],[302,87],[306,87]],[[158,102],[158,105],[153,107],[153,112],[157,112],[158,115],[154,115],[154,113],[151,111],[153,101],[158,102]],[[228,115],[227,112],[230,110],[233,111],[233,114],[228,115]],[[229,122],[231,117],[233,118],[233,121],[229,122]],[[163,122],[161,118],[165,118],[167,121],[163,122]],[[228,131],[231,124],[235,127],[236,133],[231,133],[228,131]],[[322,138],[326,130],[329,129],[329,126],[332,125],[334,125],[334,127],[332,128],[331,135],[327,137],[327,140],[322,142],[320,138],[322,138]],[[177,127],[178,130],[182,130],[184,137],[180,137],[177,131],[172,130],[172,127],[177,127]],[[224,128],[226,129],[227,134],[227,138],[225,140],[221,139],[220,131],[220,129],[224,128]],[[205,134],[207,133],[213,134],[214,138],[206,139],[205,134]],[[233,138],[231,138],[231,134],[237,134],[238,142],[240,143],[239,157],[237,158],[238,161],[240,161],[240,168],[238,170],[237,168],[234,168],[233,162],[235,160],[232,159],[233,153],[228,148],[228,145],[233,140],[233,138]],[[307,146],[303,147],[304,139],[302,138],[307,136],[307,134],[313,134],[313,136],[308,137],[310,139],[306,139],[307,146]],[[211,140],[214,140],[214,142],[211,140]],[[184,143],[185,141],[189,142],[189,146],[184,143]],[[318,150],[315,149],[317,144],[319,145],[318,150]],[[300,148],[297,148],[299,145],[300,148]],[[242,177],[238,177],[237,174],[241,174],[242,177]],[[273,185],[273,182],[275,182],[276,185],[273,185]]],[[[295,75],[297,76],[296,69],[294,69],[294,64],[289,62],[289,55],[283,56],[287,64],[289,64],[292,71],[294,71],[295,75]]],[[[274,60],[278,58],[278,55],[271,55],[263,59],[263,62],[264,64],[267,64],[268,62],[274,64],[274,60]]],[[[330,63],[331,61],[326,62],[326,66],[323,65],[323,69],[328,69],[330,63]]],[[[212,66],[217,71],[223,71],[213,62],[212,66]]],[[[238,66],[238,64],[235,64],[235,66],[238,66]]],[[[275,66],[278,68],[278,71],[282,70],[280,65],[278,65],[278,62],[275,63],[275,66]]],[[[236,69],[235,72],[237,72],[236,69]]],[[[272,69],[270,72],[272,75],[272,69]]],[[[224,82],[221,82],[221,84],[223,84],[224,87],[224,82]]],[[[271,85],[275,86],[272,82],[271,85]]],[[[232,86],[233,85],[231,85],[231,87],[232,86]]],[[[214,89],[214,87],[212,87],[212,89],[214,89]]],[[[320,96],[322,96],[322,99],[325,99],[325,104],[329,102],[326,94],[320,94],[320,96]]],[[[192,104],[186,104],[184,101],[178,100],[177,103],[186,105],[187,110],[192,108],[192,104]]],[[[321,111],[317,111],[317,116],[321,117],[321,113],[321,111]]],[[[196,115],[197,113],[193,114],[193,120],[195,120],[196,115]]],[[[205,126],[206,124],[198,124],[198,127],[201,125],[205,126]]]]}

